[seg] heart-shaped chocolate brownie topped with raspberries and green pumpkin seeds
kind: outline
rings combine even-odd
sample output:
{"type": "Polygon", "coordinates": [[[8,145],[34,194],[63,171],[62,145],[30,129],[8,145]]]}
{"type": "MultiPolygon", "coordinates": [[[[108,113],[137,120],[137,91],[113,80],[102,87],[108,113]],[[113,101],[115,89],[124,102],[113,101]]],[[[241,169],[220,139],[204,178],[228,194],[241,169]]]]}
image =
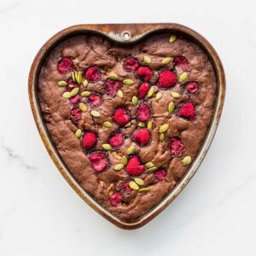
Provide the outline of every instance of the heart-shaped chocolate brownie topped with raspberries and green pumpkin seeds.
{"type": "Polygon", "coordinates": [[[212,119],[207,54],[168,33],[129,46],[81,35],[51,51],[38,98],[69,171],[102,207],[133,221],[177,184],[212,119]]]}

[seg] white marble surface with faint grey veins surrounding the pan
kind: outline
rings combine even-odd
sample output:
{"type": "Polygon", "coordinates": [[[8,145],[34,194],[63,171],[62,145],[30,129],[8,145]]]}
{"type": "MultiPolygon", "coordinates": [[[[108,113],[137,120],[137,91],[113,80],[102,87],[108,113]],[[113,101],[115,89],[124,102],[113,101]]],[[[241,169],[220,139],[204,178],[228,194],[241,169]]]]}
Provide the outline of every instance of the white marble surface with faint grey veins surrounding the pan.
{"type": "Polygon", "coordinates": [[[255,1],[0,2],[0,255],[255,255],[255,1]],[[139,230],[87,206],[50,160],[27,78],[55,32],[82,23],[176,22],[224,64],[224,113],[206,159],[177,200],[139,230]]]}

